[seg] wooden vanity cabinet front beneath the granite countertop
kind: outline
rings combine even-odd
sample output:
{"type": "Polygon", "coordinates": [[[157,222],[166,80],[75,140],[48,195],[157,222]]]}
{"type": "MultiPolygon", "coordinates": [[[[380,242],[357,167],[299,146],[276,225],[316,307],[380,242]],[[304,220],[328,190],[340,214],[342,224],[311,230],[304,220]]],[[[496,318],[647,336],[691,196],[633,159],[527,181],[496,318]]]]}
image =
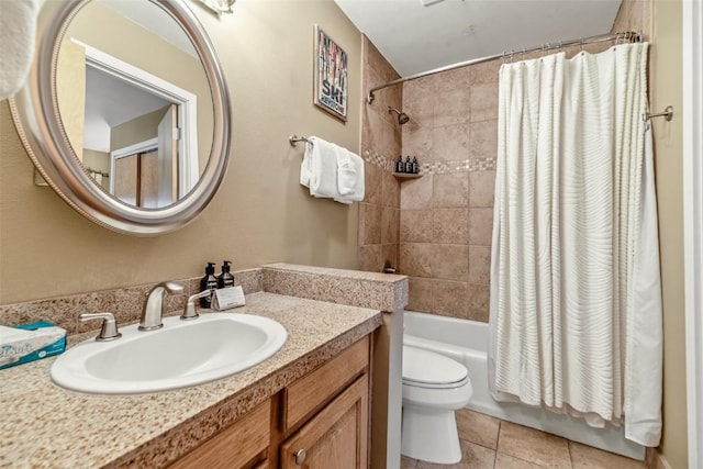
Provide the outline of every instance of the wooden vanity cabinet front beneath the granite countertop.
{"type": "Polygon", "coordinates": [[[367,468],[370,347],[356,342],[171,468],[367,468]]]}

